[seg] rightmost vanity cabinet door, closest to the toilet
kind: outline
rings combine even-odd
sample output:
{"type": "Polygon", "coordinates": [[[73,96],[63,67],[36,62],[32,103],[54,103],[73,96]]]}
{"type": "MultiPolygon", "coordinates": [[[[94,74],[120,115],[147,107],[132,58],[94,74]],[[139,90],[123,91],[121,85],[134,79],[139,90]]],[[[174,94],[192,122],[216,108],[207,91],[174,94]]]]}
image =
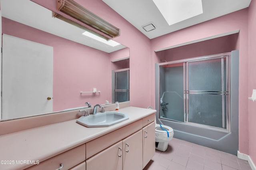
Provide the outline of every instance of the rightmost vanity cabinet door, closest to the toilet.
{"type": "Polygon", "coordinates": [[[155,122],[143,128],[143,168],[156,152],[155,122]]]}

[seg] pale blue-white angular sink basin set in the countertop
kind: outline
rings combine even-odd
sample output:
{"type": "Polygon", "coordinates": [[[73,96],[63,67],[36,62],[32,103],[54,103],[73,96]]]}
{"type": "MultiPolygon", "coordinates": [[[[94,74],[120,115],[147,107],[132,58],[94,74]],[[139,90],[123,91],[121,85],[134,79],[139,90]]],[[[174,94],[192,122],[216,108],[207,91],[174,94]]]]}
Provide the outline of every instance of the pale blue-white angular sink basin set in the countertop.
{"type": "Polygon", "coordinates": [[[127,119],[129,117],[125,113],[109,111],[97,113],[96,115],[82,116],[76,122],[86,127],[110,127],[127,119]]]}

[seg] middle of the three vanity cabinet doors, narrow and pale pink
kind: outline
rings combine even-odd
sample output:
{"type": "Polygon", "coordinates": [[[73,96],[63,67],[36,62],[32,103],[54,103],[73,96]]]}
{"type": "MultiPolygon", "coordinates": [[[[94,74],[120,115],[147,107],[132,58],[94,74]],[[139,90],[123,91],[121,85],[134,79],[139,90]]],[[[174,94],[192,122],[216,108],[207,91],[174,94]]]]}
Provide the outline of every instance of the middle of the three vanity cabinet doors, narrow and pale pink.
{"type": "Polygon", "coordinates": [[[142,130],[123,140],[123,170],[142,170],[142,130]]]}

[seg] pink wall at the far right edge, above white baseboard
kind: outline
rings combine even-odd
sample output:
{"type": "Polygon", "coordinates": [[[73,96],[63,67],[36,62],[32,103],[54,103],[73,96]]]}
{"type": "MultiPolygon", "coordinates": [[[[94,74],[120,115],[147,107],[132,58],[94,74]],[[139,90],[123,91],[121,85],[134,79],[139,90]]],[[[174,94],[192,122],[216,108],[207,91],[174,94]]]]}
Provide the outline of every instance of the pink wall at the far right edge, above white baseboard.
{"type": "MultiPolygon", "coordinates": [[[[256,74],[255,74],[255,65],[256,65],[256,1],[252,0],[249,6],[248,12],[249,18],[249,93],[248,97],[252,95],[252,89],[256,89],[256,74]]],[[[249,155],[256,164],[256,103],[249,101],[249,155]]]]}

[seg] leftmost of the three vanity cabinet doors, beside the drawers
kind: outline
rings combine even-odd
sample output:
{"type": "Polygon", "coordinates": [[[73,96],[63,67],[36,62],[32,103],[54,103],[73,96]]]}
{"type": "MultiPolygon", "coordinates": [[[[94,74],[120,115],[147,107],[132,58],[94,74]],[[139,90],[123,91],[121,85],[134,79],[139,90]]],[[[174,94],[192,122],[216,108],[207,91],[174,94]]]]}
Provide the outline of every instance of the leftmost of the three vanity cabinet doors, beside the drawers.
{"type": "Polygon", "coordinates": [[[86,160],[86,170],[122,170],[122,141],[86,160]]]}

